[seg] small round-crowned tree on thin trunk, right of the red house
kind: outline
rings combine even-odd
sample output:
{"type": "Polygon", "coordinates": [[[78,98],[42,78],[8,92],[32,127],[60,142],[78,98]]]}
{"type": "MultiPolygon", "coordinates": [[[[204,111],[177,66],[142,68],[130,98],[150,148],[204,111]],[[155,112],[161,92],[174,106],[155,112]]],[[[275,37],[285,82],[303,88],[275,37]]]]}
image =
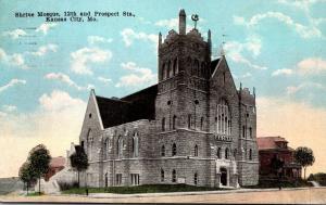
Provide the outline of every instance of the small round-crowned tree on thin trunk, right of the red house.
{"type": "Polygon", "coordinates": [[[313,151],[310,148],[299,146],[294,152],[294,158],[303,167],[305,179],[306,167],[313,165],[315,162],[313,151]]]}

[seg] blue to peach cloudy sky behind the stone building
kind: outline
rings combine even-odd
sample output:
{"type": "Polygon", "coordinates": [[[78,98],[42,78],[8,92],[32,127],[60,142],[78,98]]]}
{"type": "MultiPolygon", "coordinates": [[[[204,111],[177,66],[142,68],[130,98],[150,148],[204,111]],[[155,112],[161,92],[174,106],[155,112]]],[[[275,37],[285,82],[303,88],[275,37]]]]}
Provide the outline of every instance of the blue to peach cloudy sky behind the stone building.
{"type": "Polygon", "coordinates": [[[212,59],[223,47],[237,87],[255,87],[258,136],[311,148],[308,172],[326,172],[325,0],[0,0],[0,177],[17,176],[39,143],[65,156],[90,89],[120,98],[156,84],[158,34],[177,30],[180,9],[188,30],[191,14],[204,39],[211,29],[212,59]]]}

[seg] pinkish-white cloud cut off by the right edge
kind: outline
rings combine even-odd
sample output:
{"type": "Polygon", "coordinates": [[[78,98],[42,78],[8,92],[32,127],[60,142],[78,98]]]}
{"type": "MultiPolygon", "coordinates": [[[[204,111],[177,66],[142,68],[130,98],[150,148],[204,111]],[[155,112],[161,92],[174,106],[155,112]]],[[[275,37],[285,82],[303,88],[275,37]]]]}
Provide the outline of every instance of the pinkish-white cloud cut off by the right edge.
{"type": "Polygon", "coordinates": [[[300,61],[297,67],[301,75],[317,75],[326,73],[326,61],[321,57],[309,57],[300,61]]]}

